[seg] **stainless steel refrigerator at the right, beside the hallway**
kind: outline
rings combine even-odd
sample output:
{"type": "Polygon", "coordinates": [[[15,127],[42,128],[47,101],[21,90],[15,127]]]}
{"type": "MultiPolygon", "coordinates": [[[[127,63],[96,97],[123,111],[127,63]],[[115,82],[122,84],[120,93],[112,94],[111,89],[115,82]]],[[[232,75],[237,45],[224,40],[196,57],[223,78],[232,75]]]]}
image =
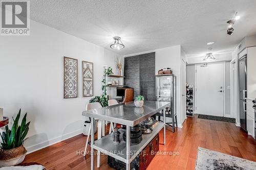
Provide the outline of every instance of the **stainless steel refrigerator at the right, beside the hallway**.
{"type": "Polygon", "coordinates": [[[247,97],[247,54],[239,59],[239,108],[240,125],[246,129],[246,97],[247,97]]]}

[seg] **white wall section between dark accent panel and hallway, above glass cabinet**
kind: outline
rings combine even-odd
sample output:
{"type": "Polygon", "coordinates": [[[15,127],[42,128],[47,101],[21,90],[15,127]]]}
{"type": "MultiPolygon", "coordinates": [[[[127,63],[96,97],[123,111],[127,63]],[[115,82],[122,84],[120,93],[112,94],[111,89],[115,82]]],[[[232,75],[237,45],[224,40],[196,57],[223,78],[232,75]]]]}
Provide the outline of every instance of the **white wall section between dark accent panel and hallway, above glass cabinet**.
{"type": "Polygon", "coordinates": [[[170,67],[176,75],[176,101],[178,127],[181,120],[181,45],[160,48],[156,50],[156,74],[159,69],[170,67]]]}

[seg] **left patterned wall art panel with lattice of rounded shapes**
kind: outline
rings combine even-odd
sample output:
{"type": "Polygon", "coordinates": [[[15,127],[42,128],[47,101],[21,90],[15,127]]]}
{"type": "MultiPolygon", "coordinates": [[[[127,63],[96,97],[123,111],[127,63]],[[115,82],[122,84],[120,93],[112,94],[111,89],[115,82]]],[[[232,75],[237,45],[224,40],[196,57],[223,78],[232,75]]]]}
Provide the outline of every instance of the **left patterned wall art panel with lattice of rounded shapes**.
{"type": "Polygon", "coordinates": [[[64,57],[64,99],[77,98],[77,59],[64,57]]]}

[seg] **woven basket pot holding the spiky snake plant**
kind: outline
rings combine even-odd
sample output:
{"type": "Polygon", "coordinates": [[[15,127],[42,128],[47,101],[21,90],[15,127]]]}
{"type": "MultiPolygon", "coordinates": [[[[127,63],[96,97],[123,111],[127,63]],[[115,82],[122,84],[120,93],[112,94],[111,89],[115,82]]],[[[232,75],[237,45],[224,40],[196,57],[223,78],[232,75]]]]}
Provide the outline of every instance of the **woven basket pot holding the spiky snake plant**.
{"type": "Polygon", "coordinates": [[[0,151],[0,167],[13,166],[22,163],[25,159],[27,150],[23,145],[17,148],[0,151]]]}

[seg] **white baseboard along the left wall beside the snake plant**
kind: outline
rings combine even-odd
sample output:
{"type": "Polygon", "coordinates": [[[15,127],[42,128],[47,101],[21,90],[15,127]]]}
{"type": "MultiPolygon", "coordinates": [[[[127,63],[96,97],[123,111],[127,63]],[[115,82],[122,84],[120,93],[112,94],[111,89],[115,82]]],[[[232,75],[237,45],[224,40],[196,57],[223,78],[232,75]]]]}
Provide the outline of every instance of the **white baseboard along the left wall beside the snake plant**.
{"type": "Polygon", "coordinates": [[[44,141],[44,142],[32,145],[30,147],[26,147],[26,150],[28,151],[27,154],[35,152],[35,151],[43,149],[43,148],[46,148],[46,147],[49,147],[52,144],[58,143],[58,142],[60,142],[62,140],[69,139],[69,138],[74,137],[76,135],[79,135],[81,133],[82,133],[82,129],[78,129],[76,131],[67,133],[65,135],[61,135],[61,136],[55,137],[53,139],[50,139],[50,140],[47,140],[47,141],[44,141]]]}

